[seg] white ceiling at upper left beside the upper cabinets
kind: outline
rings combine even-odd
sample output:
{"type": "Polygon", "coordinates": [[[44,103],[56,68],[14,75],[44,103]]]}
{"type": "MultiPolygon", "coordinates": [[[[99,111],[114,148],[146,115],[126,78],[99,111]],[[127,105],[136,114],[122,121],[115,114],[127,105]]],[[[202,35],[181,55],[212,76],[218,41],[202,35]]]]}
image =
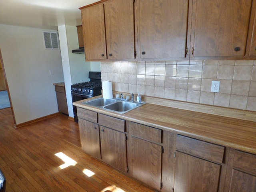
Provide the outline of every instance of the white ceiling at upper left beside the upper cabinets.
{"type": "Polygon", "coordinates": [[[99,0],[0,0],[0,24],[57,30],[82,24],[80,7],[99,0]]]}

